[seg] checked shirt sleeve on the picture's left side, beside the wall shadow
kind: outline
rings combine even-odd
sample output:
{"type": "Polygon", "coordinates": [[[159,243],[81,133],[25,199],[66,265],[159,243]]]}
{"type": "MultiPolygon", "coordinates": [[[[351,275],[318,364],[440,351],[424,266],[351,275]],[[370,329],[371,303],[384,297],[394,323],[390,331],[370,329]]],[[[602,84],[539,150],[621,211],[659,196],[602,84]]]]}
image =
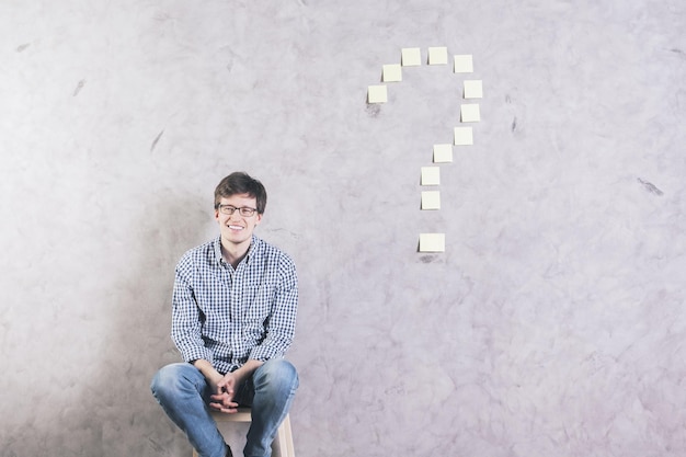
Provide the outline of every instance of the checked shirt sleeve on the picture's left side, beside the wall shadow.
{"type": "Polygon", "coordinates": [[[195,300],[191,275],[192,261],[186,255],[176,265],[172,295],[172,341],[185,362],[204,358],[214,362],[213,352],[205,346],[201,309],[195,300]]]}

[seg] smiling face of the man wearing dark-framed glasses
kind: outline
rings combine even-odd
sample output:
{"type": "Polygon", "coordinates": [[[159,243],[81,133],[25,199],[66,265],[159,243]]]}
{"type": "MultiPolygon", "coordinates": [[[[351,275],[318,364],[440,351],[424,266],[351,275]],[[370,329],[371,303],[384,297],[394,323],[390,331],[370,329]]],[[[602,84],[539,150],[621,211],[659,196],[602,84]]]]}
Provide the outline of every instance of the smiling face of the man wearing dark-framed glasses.
{"type": "Polygon", "coordinates": [[[250,247],[252,232],[262,220],[262,215],[258,214],[258,202],[248,194],[237,194],[230,197],[221,197],[219,207],[215,209],[215,218],[219,222],[219,231],[221,232],[221,242],[230,243],[238,247],[250,247]],[[227,215],[221,212],[224,205],[230,205],[235,208],[252,208],[252,216],[242,216],[240,209],[227,215]]]}

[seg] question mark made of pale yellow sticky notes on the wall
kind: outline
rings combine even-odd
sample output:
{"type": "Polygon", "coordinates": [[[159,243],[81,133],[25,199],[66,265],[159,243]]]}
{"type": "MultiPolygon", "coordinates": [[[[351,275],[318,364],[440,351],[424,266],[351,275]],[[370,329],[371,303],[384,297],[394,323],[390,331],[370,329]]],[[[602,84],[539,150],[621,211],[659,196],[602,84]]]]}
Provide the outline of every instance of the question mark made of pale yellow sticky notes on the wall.
{"type": "MultiPolygon", "coordinates": [[[[473,59],[470,54],[455,55],[454,72],[472,73],[473,59]]],[[[428,65],[447,65],[447,47],[430,47],[428,65]]],[[[382,66],[382,82],[402,81],[402,67],[420,67],[422,65],[422,50],[419,47],[402,48],[401,62],[382,66]]],[[[483,84],[481,80],[465,80],[462,87],[462,98],[465,100],[482,99],[483,84]]],[[[367,103],[386,103],[388,101],[388,89],[386,84],[369,85],[367,89],[367,103]]],[[[462,103],[460,105],[460,124],[476,123],[481,121],[481,113],[478,103],[462,103]]],[[[454,129],[453,144],[434,145],[433,162],[453,162],[453,146],[473,145],[473,132],[470,126],[460,125],[454,129]]],[[[421,185],[438,186],[441,184],[441,168],[436,165],[422,167],[421,185]]],[[[422,191],[423,210],[441,209],[439,191],[422,191]]],[[[445,233],[420,233],[419,252],[445,252],[445,233]]]]}

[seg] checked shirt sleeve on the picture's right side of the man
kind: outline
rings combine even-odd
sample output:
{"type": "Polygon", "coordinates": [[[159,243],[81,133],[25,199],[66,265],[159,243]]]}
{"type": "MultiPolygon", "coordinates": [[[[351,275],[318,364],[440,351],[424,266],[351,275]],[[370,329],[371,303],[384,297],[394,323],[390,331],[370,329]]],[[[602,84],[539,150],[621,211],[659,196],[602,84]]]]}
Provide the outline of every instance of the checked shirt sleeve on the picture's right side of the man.
{"type": "Polygon", "coordinates": [[[282,254],[278,262],[274,301],[265,325],[266,336],[250,352],[249,358],[267,361],[283,357],[293,343],[297,313],[298,276],[295,263],[287,254],[282,254]]]}

